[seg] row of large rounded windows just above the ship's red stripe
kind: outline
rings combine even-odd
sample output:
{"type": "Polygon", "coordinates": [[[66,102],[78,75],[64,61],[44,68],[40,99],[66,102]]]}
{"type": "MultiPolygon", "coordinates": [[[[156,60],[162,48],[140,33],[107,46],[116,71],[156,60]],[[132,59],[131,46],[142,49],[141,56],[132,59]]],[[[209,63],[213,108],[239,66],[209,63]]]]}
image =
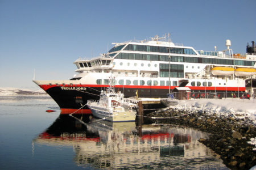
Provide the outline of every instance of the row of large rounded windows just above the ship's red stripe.
{"type": "MultiPolygon", "coordinates": [[[[97,84],[102,84],[102,79],[97,79],[96,80],[97,84]]],[[[109,79],[104,79],[103,84],[109,85],[109,79]]],[[[117,84],[117,80],[114,80],[114,84],[117,84]]],[[[131,80],[123,80],[120,79],[118,80],[119,85],[134,85],[134,86],[158,86],[159,82],[157,80],[147,80],[145,82],[144,80],[133,80],[133,84],[131,84],[131,80]]],[[[177,81],[164,81],[160,80],[160,86],[177,86],[177,81]]]]}

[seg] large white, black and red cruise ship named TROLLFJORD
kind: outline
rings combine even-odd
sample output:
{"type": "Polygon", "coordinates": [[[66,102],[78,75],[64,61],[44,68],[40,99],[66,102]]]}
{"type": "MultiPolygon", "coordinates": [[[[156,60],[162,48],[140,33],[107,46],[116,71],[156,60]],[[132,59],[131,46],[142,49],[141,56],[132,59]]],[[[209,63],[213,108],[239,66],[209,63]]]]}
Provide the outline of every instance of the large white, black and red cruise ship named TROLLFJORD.
{"type": "Polygon", "coordinates": [[[34,82],[56,101],[61,114],[91,114],[87,100],[98,100],[113,75],[115,91],[125,97],[166,98],[176,87],[188,87],[192,94],[203,96],[241,96],[250,80],[255,80],[254,41],[247,45],[246,54],[233,54],[230,40],[225,50],[204,51],[176,44],[169,35],[113,44],[105,54],[73,62],[77,74],[69,80],[34,82]]]}

